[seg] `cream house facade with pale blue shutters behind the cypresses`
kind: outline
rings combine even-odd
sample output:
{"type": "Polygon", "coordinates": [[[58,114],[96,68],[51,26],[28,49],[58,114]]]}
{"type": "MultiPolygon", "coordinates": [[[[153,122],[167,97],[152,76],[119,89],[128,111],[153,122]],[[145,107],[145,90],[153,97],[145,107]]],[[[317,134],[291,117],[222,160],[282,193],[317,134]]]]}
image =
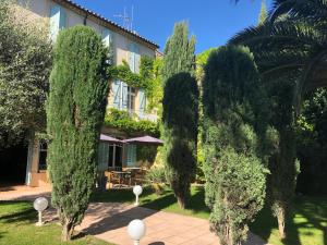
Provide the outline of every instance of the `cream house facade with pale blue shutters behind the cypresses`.
{"type": "MultiPolygon", "coordinates": [[[[40,25],[43,32],[56,42],[59,32],[75,25],[94,28],[106,46],[110,47],[114,64],[126,61],[134,73],[140,72],[141,57],[155,58],[160,53],[158,46],[122,26],[74,3],[70,0],[20,0],[17,13],[28,22],[40,25]]],[[[136,114],[138,119],[156,121],[155,113],[146,113],[146,96],[143,89],[130,87],[123,81],[108,81],[108,109],[117,108],[136,114]]],[[[129,135],[117,128],[104,126],[101,133],[114,138],[124,139],[129,135]]],[[[140,136],[140,135],[135,135],[140,136]]],[[[106,137],[104,137],[106,138],[106,137]]],[[[114,140],[100,140],[99,166],[106,168],[134,167],[137,164],[136,145],[124,145],[114,140]]],[[[26,180],[31,186],[48,183],[47,144],[35,138],[28,145],[26,180]]]]}

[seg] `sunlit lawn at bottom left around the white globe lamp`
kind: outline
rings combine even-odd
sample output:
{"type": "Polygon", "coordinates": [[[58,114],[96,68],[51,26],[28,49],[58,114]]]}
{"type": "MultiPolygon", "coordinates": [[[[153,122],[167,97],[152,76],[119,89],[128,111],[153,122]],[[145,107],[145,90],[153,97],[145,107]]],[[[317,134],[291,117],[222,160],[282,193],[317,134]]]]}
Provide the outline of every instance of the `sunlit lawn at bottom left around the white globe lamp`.
{"type": "MultiPolygon", "coordinates": [[[[35,226],[37,213],[29,201],[0,201],[0,245],[109,245],[90,235],[62,243],[61,229],[49,223],[35,226]]],[[[112,244],[111,244],[112,245],[112,244]]]]}

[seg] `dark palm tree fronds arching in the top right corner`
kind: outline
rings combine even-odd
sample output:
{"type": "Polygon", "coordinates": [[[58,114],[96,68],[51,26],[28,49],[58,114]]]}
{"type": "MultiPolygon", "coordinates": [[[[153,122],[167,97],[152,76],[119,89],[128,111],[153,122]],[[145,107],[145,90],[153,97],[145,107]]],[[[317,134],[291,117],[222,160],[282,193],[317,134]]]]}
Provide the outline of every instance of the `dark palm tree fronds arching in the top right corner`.
{"type": "Polygon", "coordinates": [[[296,106],[303,94],[327,86],[327,1],[275,0],[268,19],[230,41],[249,46],[266,79],[296,74],[296,106]]]}

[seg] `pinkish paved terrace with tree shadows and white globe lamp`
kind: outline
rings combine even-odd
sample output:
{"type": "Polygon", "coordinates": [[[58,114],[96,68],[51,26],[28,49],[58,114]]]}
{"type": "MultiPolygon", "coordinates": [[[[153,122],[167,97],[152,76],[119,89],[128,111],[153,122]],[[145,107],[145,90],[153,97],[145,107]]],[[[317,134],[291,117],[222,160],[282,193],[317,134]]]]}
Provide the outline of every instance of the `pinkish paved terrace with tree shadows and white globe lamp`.
{"type": "MultiPolygon", "coordinates": [[[[34,199],[49,195],[50,189],[19,188],[0,193],[0,200],[34,199]]],[[[47,210],[46,219],[56,221],[56,211],[47,210]]],[[[77,231],[118,245],[132,245],[126,226],[133,219],[142,219],[146,224],[145,237],[141,245],[219,245],[218,238],[209,231],[207,220],[186,217],[143,207],[118,203],[93,203],[77,231]]],[[[250,234],[246,245],[265,245],[254,234],[250,234]]]]}

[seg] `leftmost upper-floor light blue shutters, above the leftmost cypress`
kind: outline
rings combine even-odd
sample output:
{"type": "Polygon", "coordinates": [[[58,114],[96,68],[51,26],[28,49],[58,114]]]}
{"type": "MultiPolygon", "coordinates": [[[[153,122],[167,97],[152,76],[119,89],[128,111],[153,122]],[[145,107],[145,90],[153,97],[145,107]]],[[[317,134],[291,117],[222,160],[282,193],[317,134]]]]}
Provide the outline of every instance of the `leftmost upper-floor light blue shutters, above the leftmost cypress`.
{"type": "Polygon", "coordinates": [[[50,7],[50,39],[56,41],[59,30],[66,26],[65,10],[58,4],[50,7]]]}

